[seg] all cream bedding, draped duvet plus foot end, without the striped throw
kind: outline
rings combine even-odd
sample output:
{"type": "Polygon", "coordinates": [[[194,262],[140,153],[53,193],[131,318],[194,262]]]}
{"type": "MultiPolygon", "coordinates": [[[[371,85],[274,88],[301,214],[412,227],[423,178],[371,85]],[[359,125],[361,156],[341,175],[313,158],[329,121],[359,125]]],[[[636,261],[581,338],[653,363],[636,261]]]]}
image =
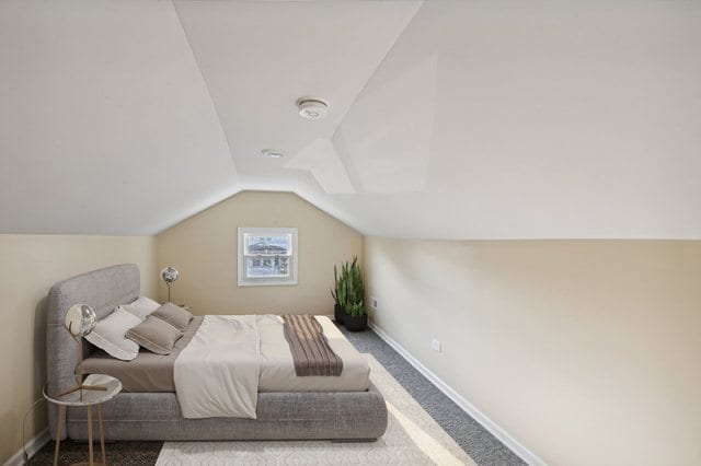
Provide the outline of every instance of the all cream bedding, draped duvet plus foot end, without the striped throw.
{"type": "Polygon", "coordinates": [[[175,359],[175,393],[188,419],[255,419],[258,392],[364,392],[370,368],[327,317],[317,316],[343,360],[340,376],[297,376],[277,315],[207,315],[175,359]]]}

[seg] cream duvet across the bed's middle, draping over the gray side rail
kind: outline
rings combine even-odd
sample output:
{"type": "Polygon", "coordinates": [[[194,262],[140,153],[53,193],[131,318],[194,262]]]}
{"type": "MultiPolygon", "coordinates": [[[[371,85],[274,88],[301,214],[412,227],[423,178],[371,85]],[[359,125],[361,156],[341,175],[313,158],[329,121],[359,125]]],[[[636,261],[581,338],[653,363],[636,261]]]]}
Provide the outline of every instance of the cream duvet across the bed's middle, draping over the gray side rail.
{"type": "Polygon", "coordinates": [[[177,400],[187,419],[255,419],[261,372],[253,315],[207,315],[175,360],[177,400]]]}

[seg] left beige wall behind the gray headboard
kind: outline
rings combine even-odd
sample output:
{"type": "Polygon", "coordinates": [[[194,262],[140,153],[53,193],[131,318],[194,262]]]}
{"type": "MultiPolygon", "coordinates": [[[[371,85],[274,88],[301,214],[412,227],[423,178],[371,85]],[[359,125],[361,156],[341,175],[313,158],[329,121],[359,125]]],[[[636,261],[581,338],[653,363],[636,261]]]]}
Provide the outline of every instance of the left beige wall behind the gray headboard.
{"type": "MultiPolygon", "coordinates": [[[[22,447],[22,417],[42,396],[49,288],[120,263],[138,264],[142,292],[156,294],[154,237],[0,234],[0,463],[22,447]]],[[[45,413],[42,404],[27,418],[27,439],[46,427],[45,413]]]]}

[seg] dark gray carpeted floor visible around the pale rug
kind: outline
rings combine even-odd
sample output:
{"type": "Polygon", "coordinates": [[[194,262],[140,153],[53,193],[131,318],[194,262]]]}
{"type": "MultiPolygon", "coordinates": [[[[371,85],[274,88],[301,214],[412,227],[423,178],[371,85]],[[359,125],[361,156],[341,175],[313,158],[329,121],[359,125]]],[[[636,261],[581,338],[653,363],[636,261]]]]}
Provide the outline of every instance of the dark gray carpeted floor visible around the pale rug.
{"type": "MultiPolygon", "coordinates": [[[[416,371],[404,358],[372,330],[344,335],[360,352],[372,354],[401,383],[416,401],[444,428],[479,465],[524,465],[525,463],[490,432],[416,371]]],[[[106,444],[107,464],[154,465],[163,442],[115,442],[106,444]]],[[[97,450],[100,445],[96,444],[97,450]]],[[[83,462],[85,443],[61,444],[60,464],[83,462]]],[[[54,442],[49,442],[30,461],[30,465],[51,464],[54,442]]]]}

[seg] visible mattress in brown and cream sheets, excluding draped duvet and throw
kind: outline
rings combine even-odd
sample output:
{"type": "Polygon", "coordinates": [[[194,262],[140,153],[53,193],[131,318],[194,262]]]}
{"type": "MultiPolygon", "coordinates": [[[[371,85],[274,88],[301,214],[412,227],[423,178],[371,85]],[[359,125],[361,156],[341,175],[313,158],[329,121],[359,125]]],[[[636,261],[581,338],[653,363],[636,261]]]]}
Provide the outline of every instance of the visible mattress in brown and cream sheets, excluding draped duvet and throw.
{"type": "MultiPolygon", "coordinates": [[[[202,324],[197,316],[177,340],[168,356],[146,350],[131,361],[120,361],[102,352],[93,353],[83,361],[85,374],[107,374],[122,381],[125,392],[175,392],[173,368],[177,354],[189,343],[202,324]]],[[[295,364],[289,345],[283,331],[283,318],[276,315],[260,315],[256,324],[261,336],[261,373],[258,392],[364,392],[370,384],[370,368],[363,356],[350,345],[324,316],[317,316],[323,327],[329,345],[343,360],[340,376],[303,376],[295,374],[295,364]]]]}

